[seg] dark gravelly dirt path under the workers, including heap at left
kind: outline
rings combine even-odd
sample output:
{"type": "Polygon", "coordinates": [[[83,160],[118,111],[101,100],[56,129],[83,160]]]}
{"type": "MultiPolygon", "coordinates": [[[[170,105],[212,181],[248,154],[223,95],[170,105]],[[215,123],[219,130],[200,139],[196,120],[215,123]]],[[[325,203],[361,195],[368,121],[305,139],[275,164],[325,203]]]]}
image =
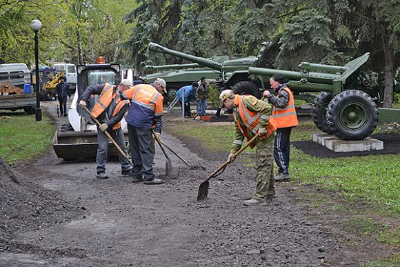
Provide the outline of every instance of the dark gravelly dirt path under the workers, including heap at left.
{"type": "MultiPolygon", "coordinates": [[[[55,102],[45,106],[54,118],[55,102]]],[[[29,166],[0,169],[0,266],[363,266],[398,253],[344,232],[340,222],[350,215],[332,212],[332,202],[310,205],[314,194],[335,201],[314,186],[277,184],[277,199],[243,206],[254,192],[254,169],[239,159],[197,202],[199,184],[226,155],[168,135],[177,123],[166,120],[163,141],[194,168],[170,154],[173,174],[164,177],[157,150],[162,185],[132,183],[117,162],[106,166],[110,179],[99,180],[94,162],[64,162],[52,149],[29,166]]]]}

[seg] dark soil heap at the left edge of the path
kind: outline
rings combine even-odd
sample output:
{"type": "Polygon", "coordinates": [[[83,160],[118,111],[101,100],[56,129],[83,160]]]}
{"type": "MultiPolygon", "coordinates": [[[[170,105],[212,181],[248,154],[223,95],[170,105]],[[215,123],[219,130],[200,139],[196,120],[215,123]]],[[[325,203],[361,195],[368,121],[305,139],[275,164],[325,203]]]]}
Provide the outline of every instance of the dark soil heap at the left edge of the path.
{"type": "Polygon", "coordinates": [[[12,246],[10,240],[19,230],[59,224],[81,212],[77,204],[29,181],[0,157],[0,252],[12,246]]]}

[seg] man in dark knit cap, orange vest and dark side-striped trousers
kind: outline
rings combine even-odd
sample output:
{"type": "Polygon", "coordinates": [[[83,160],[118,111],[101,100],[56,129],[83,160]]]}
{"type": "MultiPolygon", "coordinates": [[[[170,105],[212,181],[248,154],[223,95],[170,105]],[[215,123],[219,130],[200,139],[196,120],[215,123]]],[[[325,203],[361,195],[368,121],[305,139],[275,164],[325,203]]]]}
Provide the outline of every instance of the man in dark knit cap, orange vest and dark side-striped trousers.
{"type": "Polygon", "coordinates": [[[294,126],[299,125],[294,108],[294,97],[285,80],[285,75],[280,73],[273,75],[270,78],[270,86],[277,92],[277,96],[272,95],[268,90],[263,93],[263,96],[272,104],[272,117],[278,123],[274,144],[274,159],[278,166],[275,181],[290,181],[290,132],[294,126]]]}

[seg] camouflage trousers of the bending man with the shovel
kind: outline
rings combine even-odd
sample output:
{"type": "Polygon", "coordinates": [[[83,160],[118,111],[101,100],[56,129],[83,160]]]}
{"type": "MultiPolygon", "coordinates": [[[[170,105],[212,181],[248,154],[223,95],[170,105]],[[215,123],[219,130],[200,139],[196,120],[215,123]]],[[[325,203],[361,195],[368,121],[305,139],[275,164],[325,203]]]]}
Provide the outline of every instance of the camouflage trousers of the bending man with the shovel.
{"type": "Polygon", "coordinates": [[[274,135],[256,142],[256,192],[254,199],[265,201],[267,195],[275,195],[274,135]]]}

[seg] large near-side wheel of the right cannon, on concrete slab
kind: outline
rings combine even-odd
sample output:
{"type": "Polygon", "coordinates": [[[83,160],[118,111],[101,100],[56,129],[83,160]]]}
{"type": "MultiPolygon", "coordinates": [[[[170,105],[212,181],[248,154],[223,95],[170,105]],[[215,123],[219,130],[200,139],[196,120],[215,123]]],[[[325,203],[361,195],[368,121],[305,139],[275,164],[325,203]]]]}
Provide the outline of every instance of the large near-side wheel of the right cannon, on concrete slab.
{"type": "Polygon", "coordinates": [[[337,137],[343,140],[364,139],[377,128],[377,104],[366,92],[347,90],[330,101],[326,119],[337,137]]]}

